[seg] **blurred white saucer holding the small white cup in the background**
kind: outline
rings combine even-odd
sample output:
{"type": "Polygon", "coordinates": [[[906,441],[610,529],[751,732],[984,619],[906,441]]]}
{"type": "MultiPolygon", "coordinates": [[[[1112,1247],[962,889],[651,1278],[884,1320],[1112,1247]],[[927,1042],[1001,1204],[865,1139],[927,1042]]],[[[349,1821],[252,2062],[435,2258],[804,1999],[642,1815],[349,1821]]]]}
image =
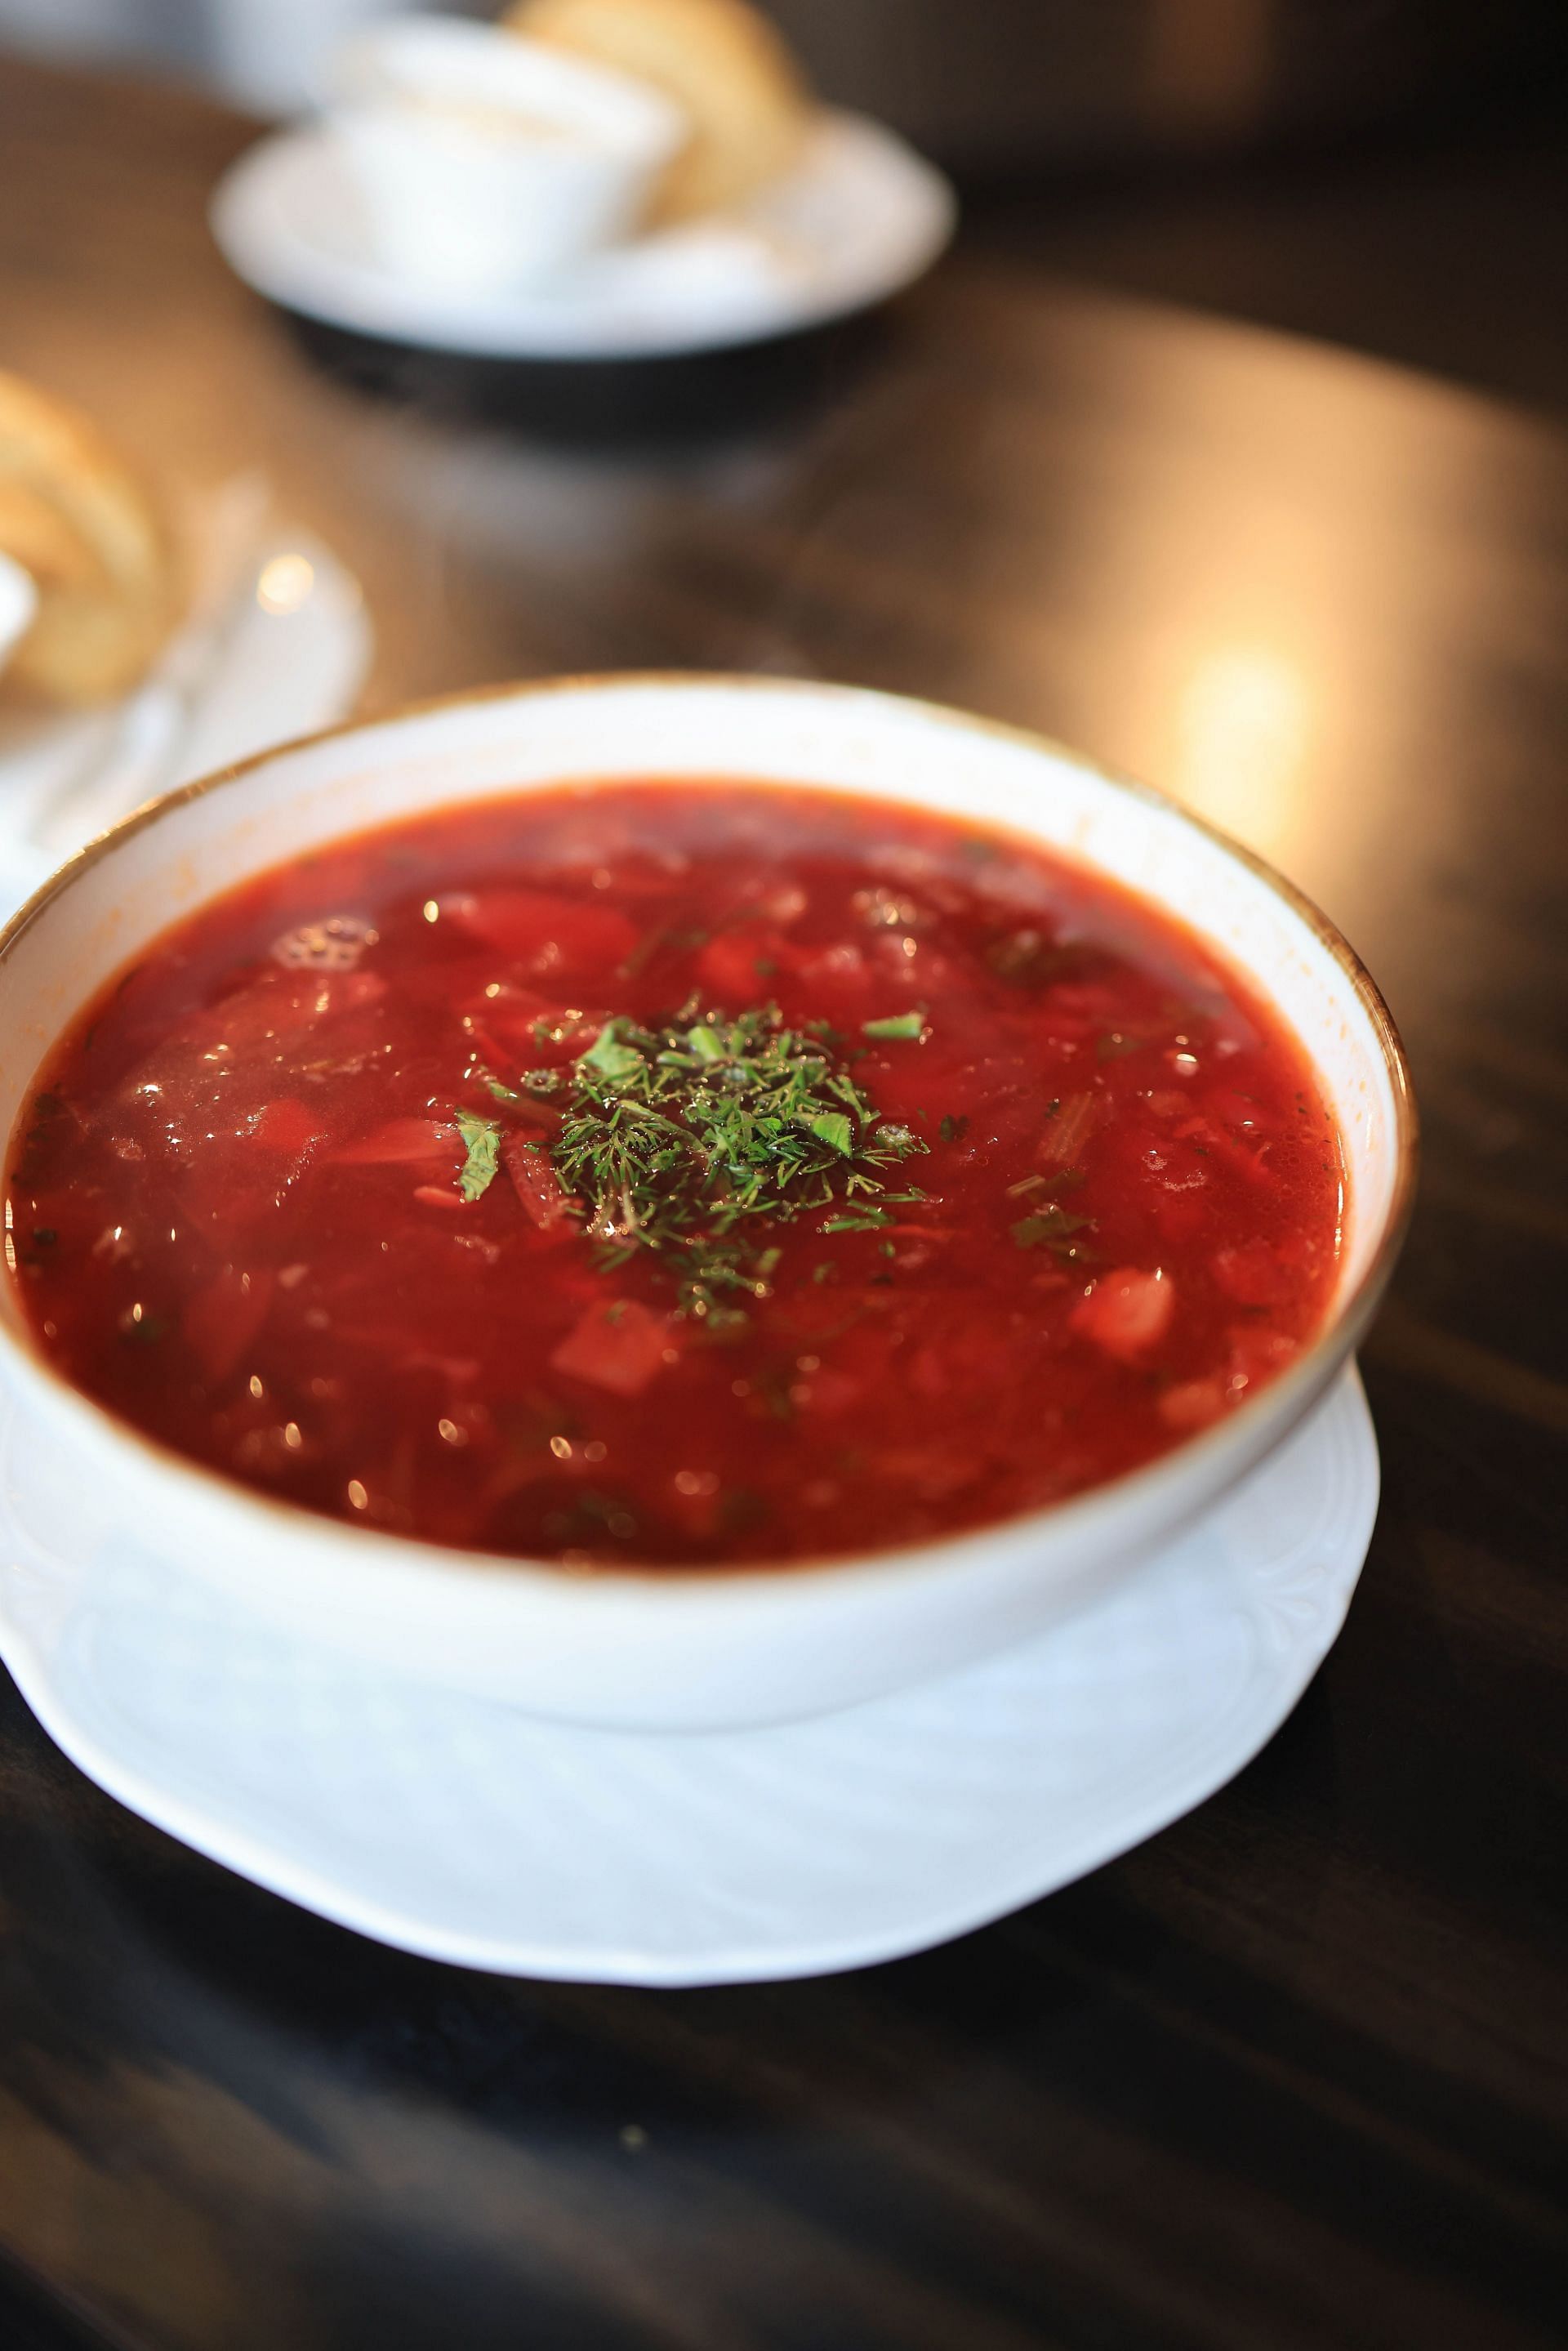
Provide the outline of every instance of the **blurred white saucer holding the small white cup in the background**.
{"type": "Polygon", "coordinates": [[[635,360],[820,327],[924,275],[952,237],[950,183],[865,115],[823,113],[743,209],[590,256],[527,292],[383,268],[322,122],[275,132],[223,176],[212,230],[268,301],[390,343],[487,360],[635,360]]]}

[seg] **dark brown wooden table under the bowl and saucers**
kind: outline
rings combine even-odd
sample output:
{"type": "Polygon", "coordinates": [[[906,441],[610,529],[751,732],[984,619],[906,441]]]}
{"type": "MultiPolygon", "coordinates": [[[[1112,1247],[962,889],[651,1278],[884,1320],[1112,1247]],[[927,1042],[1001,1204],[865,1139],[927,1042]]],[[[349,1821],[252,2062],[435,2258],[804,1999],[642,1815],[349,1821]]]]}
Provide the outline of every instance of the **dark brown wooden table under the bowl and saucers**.
{"type": "MultiPolygon", "coordinates": [[[[832,397],[559,449],[233,284],[244,127],[0,63],[0,362],[360,569],[371,708],[741,665],[1048,729],[1382,978],[1427,1178],[1347,1632],[1190,1820],[816,1984],[538,1987],[324,1925],[0,1697],[7,2342],[1526,2351],[1561,2339],[1568,454],[1309,343],[959,254],[832,397]],[[635,2125],[628,2130],[628,2125],[635,2125]]],[[[2,1676],[0,1676],[2,1681],[2,1676]]]]}

